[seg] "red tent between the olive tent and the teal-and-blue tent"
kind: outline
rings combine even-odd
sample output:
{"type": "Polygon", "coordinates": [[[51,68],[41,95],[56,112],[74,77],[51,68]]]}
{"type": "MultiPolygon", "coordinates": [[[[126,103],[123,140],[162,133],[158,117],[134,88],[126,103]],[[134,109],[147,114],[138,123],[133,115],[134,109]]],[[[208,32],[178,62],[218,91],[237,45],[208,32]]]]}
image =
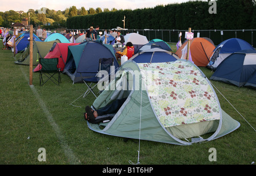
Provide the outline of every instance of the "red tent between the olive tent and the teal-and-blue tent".
{"type": "MultiPolygon", "coordinates": [[[[78,45],[79,43],[53,43],[51,50],[47,53],[44,58],[59,58],[59,68],[60,71],[63,72],[65,68],[65,63],[67,61],[68,56],[68,46],[78,45]]],[[[36,68],[33,70],[34,72],[38,72],[41,68],[41,65],[38,64],[36,68]]]]}

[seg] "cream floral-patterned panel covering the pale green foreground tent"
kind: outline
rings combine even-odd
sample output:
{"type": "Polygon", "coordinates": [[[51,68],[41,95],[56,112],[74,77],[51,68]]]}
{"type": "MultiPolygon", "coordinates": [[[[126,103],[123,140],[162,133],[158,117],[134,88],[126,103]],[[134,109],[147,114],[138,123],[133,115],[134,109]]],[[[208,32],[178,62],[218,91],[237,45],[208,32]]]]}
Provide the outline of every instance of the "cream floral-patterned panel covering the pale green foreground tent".
{"type": "Polygon", "coordinates": [[[220,104],[191,62],[140,63],[152,107],[164,127],[219,120],[220,104]]]}

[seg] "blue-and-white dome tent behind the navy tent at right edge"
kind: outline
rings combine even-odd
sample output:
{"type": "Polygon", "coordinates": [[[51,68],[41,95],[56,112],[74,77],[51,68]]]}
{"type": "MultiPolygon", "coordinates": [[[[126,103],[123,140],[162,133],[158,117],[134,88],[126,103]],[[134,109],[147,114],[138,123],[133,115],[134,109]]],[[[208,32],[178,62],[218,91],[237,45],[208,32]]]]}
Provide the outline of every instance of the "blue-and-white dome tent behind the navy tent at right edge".
{"type": "Polygon", "coordinates": [[[241,50],[255,50],[247,41],[237,38],[222,41],[213,51],[207,68],[216,70],[217,66],[229,55],[241,50]]]}

